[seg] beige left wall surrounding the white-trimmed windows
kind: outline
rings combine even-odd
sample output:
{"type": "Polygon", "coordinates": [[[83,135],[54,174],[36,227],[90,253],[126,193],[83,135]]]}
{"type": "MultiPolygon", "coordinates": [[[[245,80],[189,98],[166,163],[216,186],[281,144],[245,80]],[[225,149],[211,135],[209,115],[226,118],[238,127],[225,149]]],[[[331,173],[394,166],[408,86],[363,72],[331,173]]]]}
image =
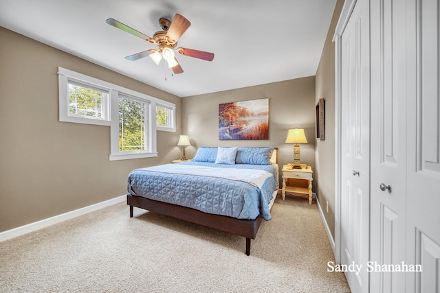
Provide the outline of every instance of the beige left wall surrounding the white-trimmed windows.
{"type": "Polygon", "coordinates": [[[126,194],[132,169],[179,157],[181,98],[3,27],[0,40],[0,231],[126,194]],[[109,161],[108,126],[58,121],[58,66],[175,103],[177,132],[157,132],[157,158],[109,161]]]}

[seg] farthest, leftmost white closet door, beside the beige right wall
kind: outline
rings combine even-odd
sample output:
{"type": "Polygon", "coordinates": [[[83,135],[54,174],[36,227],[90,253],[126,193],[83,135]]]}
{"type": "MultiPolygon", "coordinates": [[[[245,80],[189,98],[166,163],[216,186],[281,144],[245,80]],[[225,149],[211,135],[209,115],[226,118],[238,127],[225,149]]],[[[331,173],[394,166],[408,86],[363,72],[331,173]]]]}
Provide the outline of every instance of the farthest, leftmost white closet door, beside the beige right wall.
{"type": "Polygon", "coordinates": [[[358,0],[341,37],[341,264],[353,292],[369,291],[369,1],[358,0]]]}

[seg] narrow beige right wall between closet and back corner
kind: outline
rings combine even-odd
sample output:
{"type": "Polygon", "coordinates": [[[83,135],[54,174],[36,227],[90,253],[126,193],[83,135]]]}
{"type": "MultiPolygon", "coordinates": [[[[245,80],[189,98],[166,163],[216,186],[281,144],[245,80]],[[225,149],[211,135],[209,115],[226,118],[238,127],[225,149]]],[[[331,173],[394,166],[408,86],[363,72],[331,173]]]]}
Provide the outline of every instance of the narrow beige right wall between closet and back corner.
{"type": "Polygon", "coordinates": [[[331,40],[342,5],[344,0],[338,0],[316,71],[316,103],[318,99],[325,98],[325,140],[316,141],[316,191],[333,239],[335,237],[335,45],[331,40]],[[327,202],[329,202],[328,212],[327,202]]]}

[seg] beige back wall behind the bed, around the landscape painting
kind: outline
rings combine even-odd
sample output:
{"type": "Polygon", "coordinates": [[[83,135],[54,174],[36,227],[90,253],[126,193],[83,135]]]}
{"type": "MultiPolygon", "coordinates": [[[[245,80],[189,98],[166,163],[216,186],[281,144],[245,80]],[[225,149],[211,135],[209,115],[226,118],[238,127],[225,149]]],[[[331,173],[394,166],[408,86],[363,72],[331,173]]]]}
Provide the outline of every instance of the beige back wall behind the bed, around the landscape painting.
{"type": "Polygon", "coordinates": [[[315,167],[315,77],[261,84],[243,89],[184,97],[182,130],[192,146],[188,158],[201,146],[274,146],[282,167],[293,161],[293,145],[285,143],[289,128],[305,128],[309,143],[301,145],[301,161],[315,167]],[[269,140],[219,141],[219,104],[269,98],[269,140]]]}

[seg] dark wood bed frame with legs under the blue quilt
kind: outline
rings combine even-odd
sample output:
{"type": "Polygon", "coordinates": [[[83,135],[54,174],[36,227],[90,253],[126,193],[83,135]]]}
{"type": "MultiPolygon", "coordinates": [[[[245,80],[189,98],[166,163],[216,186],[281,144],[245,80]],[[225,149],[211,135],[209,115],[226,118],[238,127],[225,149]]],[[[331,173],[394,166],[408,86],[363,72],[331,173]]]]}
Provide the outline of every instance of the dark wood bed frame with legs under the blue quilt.
{"type": "MultiPolygon", "coordinates": [[[[276,163],[278,163],[278,148],[275,149],[277,150],[276,163]]],[[[132,194],[126,195],[126,204],[130,206],[130,218],[133,218],[133,207],[138,207],[162,215],[168,215],[179,220],[246,237],[246,255],[250,255],[250,241],[251,239],[255,239],[256,232],[259,230],[261,221],[263,220],[261,217],[255,220],[241,220],[225,215],[203,213],[196,209],[150,200],[148,198],[142,198],[141,196],[133,196],[132,194]]]]}

